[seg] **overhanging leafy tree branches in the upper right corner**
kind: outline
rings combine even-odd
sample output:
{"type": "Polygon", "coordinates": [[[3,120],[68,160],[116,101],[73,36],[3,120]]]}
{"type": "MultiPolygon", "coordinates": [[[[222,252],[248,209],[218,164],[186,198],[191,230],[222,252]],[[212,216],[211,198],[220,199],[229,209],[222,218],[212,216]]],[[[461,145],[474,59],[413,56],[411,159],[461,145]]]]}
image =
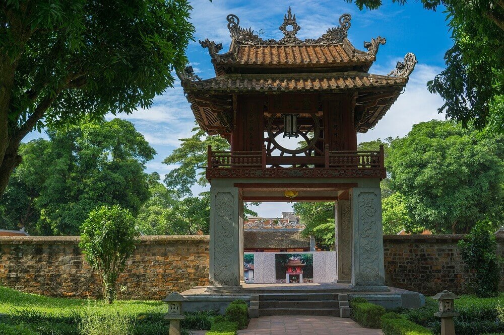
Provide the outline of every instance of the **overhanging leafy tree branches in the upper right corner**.
{"type": "MultiPolygon", "coordinates": [[[[347,0],[359,9],[377,9],[381,0],[347,0]]],[[[405,4],[406,0],[392,0],[405,4]]],[[[445,54],[447,68],[429,81],[431,92],[445,100],[439,112],[504,132],[504,1],[422,0],[426,9],[446,7],[454,46],[445,54]]]]}

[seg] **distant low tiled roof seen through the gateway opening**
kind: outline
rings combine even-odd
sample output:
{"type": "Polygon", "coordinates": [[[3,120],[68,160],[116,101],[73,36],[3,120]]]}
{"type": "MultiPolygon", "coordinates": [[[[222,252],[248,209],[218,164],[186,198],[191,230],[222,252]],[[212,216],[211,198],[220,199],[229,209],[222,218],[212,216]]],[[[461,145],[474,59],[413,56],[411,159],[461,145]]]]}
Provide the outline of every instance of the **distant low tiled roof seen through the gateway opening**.
{"type": "Polygon", "coordinates": [[[245,249],[290,249],[309,248],[310,238],[301,235],[301,231],[268,230],[247,231],[243,233],[245,249]]]}

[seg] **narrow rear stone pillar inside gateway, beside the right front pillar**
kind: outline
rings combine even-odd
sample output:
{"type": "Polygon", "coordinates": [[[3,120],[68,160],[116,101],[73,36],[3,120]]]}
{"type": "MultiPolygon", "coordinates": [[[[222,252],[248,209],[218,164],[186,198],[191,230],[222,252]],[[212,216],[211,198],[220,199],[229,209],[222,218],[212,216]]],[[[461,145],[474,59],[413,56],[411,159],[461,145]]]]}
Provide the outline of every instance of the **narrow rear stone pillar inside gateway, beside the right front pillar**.
{"type": "Polygon", "coordinates": [[[352,267],[352,225],[350,200],[338,200],[334,206],[336,222],[336,283],[350,284],[352,267]]]}

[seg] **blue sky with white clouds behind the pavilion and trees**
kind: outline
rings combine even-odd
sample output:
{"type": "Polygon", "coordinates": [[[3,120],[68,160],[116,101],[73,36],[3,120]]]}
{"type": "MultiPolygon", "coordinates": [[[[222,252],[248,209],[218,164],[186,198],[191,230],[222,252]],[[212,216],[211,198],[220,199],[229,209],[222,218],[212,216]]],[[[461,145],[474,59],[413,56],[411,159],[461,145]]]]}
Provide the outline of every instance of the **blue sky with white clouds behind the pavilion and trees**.
{"type": "MultiPolygon", "coordinates": [[[[301,27],[297,37],[318,38],[329,27],[337,26],[339,17],[344,13],[352,16],[348,38],[358,49],[364,41],[382,36],[387,44],[380,47],[377,61],[370,73],[387,74],[402,60],[407,52],[413,52],[418,64],[410,76],[406,91],[402,94],[387,115],[375,129],[366,134],[359,134],[358,140],[369,141],[388,136],[404,136],[415,123],[431,119],[444,119],[437,114],[442,99],[430,94],[426,82],[444,68],[443,56],[451,47],[450,33],[445,22],[443,9],[437,12],[426,11],[420,2],[411,2],[405,6],[391,4],[385,0],[385,6],[377,11],[359,11],[353,4],[344,0],[307,0],[307,1],[192,1],[194,8],[192,22],[196,27],[195,42],[187,48],[187,56],[196,74],[206,79],[213,77],[213,67],[207,49],[203,49],[198,40],[206,38],[216,43],[222,42],[225,52],[229,48],[230,37],[226,16],[235,14],[240,19],[241,27],[252,27],[255,31],[264,30],[264,39],[282,37],[278,27],[283,23],[283,16],[288,7],[296,15],[301,27]]],[[[163,164],[163,159],[179,145],[179,138],[189,137],[194,127],[194,116],[183,96],[180,82],[169,88],[154,100],[149,110],[138,110],[121,118],[133,122],[138,131],[158,152],[154,160],[147,163],[147,172],[157,171],[166,174],[174,166],[163,164]]],[[[25,141],[43,136],[37,132],[29,134],[25,141]]],[[[197,194],[203,189],[195,188],[197,194]]],[[[277,217],[281,211],[290,210],[287,203],[265,203],[255,208],[259,215],[277,217]]]]}

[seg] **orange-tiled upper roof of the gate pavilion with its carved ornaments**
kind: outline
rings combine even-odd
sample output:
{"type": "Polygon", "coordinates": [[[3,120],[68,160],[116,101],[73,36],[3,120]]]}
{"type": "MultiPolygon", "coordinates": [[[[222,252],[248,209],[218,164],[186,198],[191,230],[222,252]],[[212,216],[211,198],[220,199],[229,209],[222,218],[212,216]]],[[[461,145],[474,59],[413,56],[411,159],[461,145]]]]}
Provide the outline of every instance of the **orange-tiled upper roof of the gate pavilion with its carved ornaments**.
{"type": "Polygon", "coordinates": [[[300,40],[296,34],[301,27],[289,8],[279,28],[284,37],[277,41],[263,40],[250,28],[241,28],[238,17],[230,14],[227,16],[232,38],[229,51],[219,54],[222,43],[215,44],[208,39],[200,41],[200,44],[208,48],[217,75],[251,73],[260,68],[267,68],[270,73],[275,70],[285,72],[285,69],[293,67],[305,67],[310,71],[324,68],[334,71],[338,68],[341,71],[367,72],[376,59],[380,44],[385,44],[385,38],[379,36],[365,42],[367,51],[357,50],[347,38],[350,20],[350,14],[344,14],[339,19],[340,26],[328,29],[318,39],[300,40]]]}

